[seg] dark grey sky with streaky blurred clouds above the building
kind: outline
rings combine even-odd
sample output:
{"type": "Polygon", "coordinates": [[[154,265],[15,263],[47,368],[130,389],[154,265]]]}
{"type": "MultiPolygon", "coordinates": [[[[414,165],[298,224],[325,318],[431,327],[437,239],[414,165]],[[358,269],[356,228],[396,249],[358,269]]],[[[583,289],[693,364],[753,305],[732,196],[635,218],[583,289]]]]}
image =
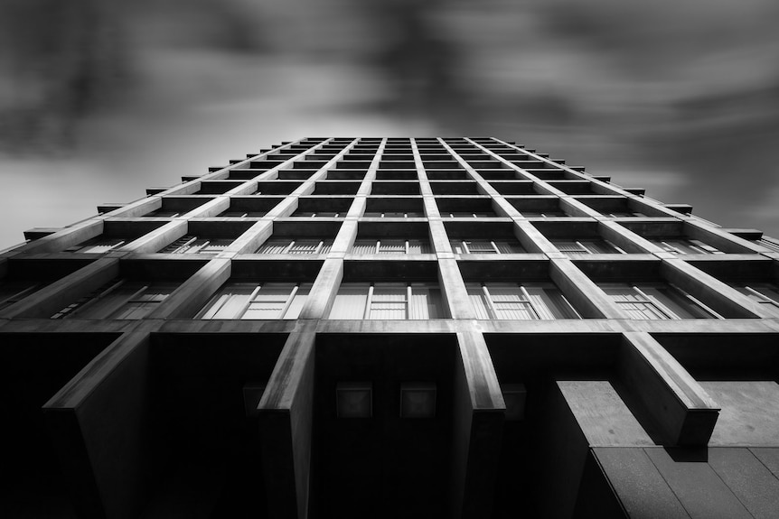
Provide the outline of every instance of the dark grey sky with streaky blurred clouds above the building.
{"type": "Polygon", "coordinates": [[[305,136],[491,135],[779,236],[774,0],[0,4],[0,249],[305,136]]]}

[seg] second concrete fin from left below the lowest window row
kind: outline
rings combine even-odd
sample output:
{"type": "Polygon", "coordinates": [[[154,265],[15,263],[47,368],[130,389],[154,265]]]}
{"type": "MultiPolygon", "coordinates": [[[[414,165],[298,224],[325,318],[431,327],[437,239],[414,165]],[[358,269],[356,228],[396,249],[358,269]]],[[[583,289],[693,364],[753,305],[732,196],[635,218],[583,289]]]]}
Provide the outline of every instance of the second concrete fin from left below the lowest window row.
{"type": "Polygon", "coordinates": [[[314,422],[314,323],[304,323],[284,349],[258,404],[269,517],[305,519],[314,422]]]}

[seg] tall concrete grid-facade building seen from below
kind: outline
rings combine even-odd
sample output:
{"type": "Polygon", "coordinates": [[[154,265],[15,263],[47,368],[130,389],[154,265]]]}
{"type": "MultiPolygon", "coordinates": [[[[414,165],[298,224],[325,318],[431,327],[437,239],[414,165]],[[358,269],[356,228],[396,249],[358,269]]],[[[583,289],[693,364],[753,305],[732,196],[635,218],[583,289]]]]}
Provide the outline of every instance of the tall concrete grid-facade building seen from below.
{"type": "Polygon", "coordinates": [[[779,516],[776,240],[495,138],[211,170],[0,258],[3,517],[779,516]]]}

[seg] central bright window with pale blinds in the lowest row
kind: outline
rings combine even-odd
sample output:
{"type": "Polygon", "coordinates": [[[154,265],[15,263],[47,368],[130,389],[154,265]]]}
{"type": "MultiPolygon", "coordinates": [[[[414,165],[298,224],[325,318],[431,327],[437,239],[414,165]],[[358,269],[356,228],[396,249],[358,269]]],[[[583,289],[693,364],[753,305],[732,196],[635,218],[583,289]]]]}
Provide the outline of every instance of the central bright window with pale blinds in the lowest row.
{"type": "Polygon", "coordinates": [[[445,314],[432,283],[343,283],[329,319],[424,320],[445,314]]]}

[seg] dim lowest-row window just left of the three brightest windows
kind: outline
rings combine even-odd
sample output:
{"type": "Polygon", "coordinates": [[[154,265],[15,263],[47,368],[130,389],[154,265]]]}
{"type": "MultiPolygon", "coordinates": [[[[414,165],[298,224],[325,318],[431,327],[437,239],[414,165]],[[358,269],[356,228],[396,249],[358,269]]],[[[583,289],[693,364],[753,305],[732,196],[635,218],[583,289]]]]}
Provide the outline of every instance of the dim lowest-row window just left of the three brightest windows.
{"type": "Polygon", "coordinates": [[[155,310],[178,285],[113,281],[52,315],[52,319],[138,320],[155,310]]]}

